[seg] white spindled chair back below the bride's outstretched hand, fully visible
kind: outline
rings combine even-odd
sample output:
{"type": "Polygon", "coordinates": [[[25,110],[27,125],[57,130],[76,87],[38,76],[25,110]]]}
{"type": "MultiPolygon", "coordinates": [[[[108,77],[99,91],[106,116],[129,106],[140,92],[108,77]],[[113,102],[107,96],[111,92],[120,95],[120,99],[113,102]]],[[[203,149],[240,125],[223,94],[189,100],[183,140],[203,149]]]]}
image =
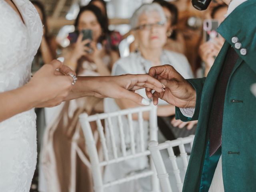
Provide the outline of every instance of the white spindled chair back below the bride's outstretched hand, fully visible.
{"type": "MultiPolygon", "coordinates": [[[[140,173],[133,174],[132,176],[126,176],[126,178],[120,178],[108,183],[103,183],[103,177],[102,177],[102,167],[106,165],[111,164],[117,164],[119,162],[123,162],[125,160],[132,160],[136,158],[140,158],[143,156],[150,156],[150,151],[145,148],[145,142],[144,142],[144,119],[143,119],[143,112],[149,112],[150,118],[149,118],[149,141],[150,140],[157,140],[157,114],[156,114],[156,106],[153,104],[150,106],[142,106],[138,108],[130,108],[125,110],[120,110],[116,112],[110,112],[110,113],[102,113],[102,114],[96,114],[92,116],[88,116],[86,113],[80,115],[80,123],[82,126],[82,130],[84,133],[84,137],[86,140],[86,148],[88,150],[88,154],[90,157],[90,163],[91,163],[91,170],[92,170],[92,177],[93,177],[93,183],[94,183],[94,191],[95,192],[104,192],[104,188],[114,186],[117,184],[122,184],[124,182],[128,182],[131,180],[137,180],[139,178],[145,178],[148,176],[151,176],[151,183],[152,183],[152,191],[159,192],[159,181],[156,176],[156,170],[154,168],[154,164],[152,162],[152,159],[150,158],[150,169],[142,171],[140,173]],[[134,126],[133,126],[133,120],[132,120],[132,114],[138,114],[138,133],[140,137],[140,144],[136,146],[136,143],[134,142],[134,126]],[[125,140],[125,134],[124,134],[124,124],[123,124],[123,118],[124,116],[128,119],[128,133],[129,133],[129,146],[130,151],[127,153],[127,141],[125,140]],[[116,119],[118,122],[118,134],[114,131],[112,120],[116,119]],[[106,136],[104,132],[104,128],[102,126],[102,120],[105,120],[108,124],[108,133],[110,134],[110,145],[107,144],[106,136]],[[96,122],[97,124],[97,130],[100,137],[100,142],[102,145],[102,151],[103,151],[103,160],[100,161],[97,148],[96,148],[96,142],[94,140],[94,136],[92,133],[92,129],[90,126],[90,122],[96,122]],[[119,144],[116,144],[116,138],[118,137],[118,140],[120,141],[119,144]],[[109,148],[110,146],[110,148],[109,148]],[[139,149],[139,150],[138,150],[139,149]],[[111,155],[110,151],[112,152],[111,155]]],[[[138,136],[138,135],[137,135],[138,136]]]]}

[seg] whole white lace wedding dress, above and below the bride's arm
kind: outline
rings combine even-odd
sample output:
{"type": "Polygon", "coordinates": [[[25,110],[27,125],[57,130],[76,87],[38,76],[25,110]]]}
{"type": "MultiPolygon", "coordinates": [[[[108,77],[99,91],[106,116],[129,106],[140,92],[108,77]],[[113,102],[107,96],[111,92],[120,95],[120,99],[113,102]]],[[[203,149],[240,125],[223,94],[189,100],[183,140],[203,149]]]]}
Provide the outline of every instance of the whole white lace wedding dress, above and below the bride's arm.
{"type": "MultiPolygon", "coordinates": [[[[42,38],[42,22],[29,0],[13,0],[20,16],[0,0],[0,92],[30,80],[42,38]]],[[[0,110],[1,106],[0,106],[0,110]]],[[[29,192],[36,168],[34,109],[0,122],[0,192],[29,192]]]]}

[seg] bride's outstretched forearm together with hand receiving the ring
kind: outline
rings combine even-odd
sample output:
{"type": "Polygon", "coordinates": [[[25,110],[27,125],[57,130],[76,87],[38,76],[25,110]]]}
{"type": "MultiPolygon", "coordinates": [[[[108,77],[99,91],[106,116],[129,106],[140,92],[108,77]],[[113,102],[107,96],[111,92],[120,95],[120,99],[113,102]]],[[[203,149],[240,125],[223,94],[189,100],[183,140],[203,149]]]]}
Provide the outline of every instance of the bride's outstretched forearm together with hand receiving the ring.
{"type": "MultiPolygon", "coordinates": [[[[147,74],[101,76],[101,77],[78,77],[78,80],[65,100],[85,96],[100,98],[124,98],[142,104],[143,97],[134,93],[135,90],[151,87],[152,90],[162,92],[162,84],[147,74]]],[[[145,101],[145,100],[144,100],[145,101]]]]}

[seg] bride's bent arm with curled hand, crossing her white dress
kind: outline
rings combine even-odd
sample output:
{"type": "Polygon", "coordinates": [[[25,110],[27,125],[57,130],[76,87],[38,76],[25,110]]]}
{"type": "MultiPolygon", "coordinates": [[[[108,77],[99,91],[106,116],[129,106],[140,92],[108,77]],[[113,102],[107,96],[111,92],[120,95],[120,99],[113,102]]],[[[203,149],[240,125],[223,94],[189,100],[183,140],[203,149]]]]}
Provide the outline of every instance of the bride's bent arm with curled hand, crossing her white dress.
{"type": "Polygon", "coordinates": [[[62,63],[45,64],[26,85],[0,93],[0,122],[34,107],[60,104],[71,90],[72,78],[57,75],[62,63]]]}

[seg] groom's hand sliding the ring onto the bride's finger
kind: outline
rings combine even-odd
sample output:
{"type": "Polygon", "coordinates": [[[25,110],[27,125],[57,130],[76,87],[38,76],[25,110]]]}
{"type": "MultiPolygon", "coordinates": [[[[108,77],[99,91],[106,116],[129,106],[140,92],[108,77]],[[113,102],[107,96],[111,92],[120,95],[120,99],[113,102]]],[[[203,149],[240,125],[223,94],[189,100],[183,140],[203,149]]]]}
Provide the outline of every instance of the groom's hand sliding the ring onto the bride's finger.
{"type": "Polygon", "coordinates": [[[172,66],[163,65],[150,68],[148,74],[159,80],[165,86],[165,92],[146,88],[148,98],[153,98],[154,104],[158,104],[158,98],[181,108],[194,107],[196,105],[196,91],[172,66]]]}

